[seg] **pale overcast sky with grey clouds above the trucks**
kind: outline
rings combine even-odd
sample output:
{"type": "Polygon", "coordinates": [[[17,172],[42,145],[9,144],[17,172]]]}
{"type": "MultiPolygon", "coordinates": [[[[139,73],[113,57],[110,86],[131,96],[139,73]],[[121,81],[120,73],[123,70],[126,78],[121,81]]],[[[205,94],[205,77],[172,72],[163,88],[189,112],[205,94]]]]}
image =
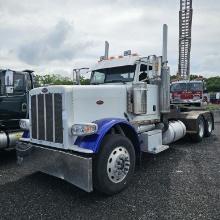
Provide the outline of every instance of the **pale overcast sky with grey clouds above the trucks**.
{"type": "MultiPolygon", "coordinates": [[[[191,73],[220,74],[220,1],[193,0],[191,73]]],[[[168,60],[177,72],[179,0],[0,0],[0,68],[70,75],[131,49],[161,55],[169,26],[168,60]]]]}

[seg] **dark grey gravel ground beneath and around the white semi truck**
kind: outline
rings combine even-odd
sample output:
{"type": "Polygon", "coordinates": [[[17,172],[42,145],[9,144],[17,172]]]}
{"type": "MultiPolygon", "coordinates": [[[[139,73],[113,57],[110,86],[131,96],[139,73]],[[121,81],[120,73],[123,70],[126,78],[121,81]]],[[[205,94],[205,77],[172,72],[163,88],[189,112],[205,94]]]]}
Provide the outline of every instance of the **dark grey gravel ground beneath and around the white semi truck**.
{"type": "Polygon", "coordinates": [[[144,155],[133,182],[105,197],[16,165],[0,153],[0,219],[220,219],[220,124],[202,143],[187,138],[144,155]]]}

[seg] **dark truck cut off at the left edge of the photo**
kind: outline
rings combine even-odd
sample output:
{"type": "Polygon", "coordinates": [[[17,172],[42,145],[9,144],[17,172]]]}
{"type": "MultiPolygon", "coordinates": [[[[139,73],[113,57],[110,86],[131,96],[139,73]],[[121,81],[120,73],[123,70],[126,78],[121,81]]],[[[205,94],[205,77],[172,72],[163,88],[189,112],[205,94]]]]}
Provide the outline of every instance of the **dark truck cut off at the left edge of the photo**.
{"type": "Polygon", "coordinates": [[[33,71],[0,70],[0,150],[15,147],[23,131],[20,119],[28,117],[28,92],[33,71]]]}

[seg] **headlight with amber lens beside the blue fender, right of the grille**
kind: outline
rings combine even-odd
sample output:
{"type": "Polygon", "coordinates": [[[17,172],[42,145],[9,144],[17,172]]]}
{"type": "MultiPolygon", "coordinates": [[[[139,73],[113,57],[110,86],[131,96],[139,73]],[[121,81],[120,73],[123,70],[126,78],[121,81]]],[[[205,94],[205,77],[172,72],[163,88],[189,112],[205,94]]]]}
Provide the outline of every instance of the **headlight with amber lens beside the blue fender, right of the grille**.
{"type": "Polygon", "coordinates": [[[74,136],[86,136],[95,134],[98,131],[98,125],[94,123],[75,124],[71,127],[71,133],[74,136]]]}

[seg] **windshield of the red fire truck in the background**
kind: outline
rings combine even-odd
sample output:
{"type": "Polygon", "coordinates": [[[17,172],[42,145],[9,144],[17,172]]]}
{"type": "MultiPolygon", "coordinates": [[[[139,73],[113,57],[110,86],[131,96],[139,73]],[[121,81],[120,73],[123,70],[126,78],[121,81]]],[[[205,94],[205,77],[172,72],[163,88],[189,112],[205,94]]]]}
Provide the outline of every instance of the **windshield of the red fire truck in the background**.
{"type": "Polygon", "coordinates": [[[183,91],[197,92],[197,91],[202,91],[202,90],[203,90],[203,85],[200,82],[175,83],[175,84],[172,84],[170,87],[171,92],[183,92],[183,91]]]}

